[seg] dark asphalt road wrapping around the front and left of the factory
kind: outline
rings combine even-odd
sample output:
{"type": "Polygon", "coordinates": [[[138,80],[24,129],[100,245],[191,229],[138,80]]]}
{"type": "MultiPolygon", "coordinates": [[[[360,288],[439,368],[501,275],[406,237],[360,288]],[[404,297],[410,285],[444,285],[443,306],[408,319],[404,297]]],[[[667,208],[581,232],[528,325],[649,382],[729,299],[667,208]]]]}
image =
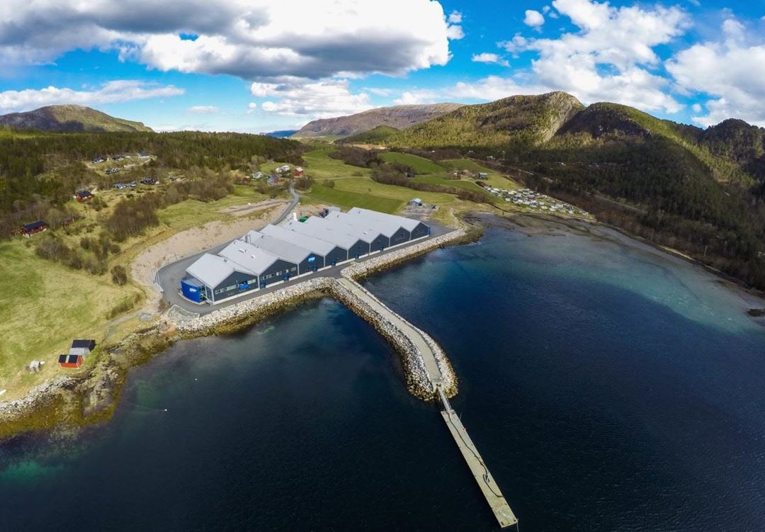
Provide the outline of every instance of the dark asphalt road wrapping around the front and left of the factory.
{"type": "MultiPolygon", "coordinates": [[[[280,220],[284,220],[286,216],[288,216],[289,211],[286,211],[285,214],[283,214],[280,217],[280,220]]],[[[452,229],[449,227],[444,227],[441,224],[436,224],[435,222],[428,222],[428,225],[431,227],[431,236],[433,237],[440,237],[442,234],[450,232],[452,229]]],[[[420,243],[422,240],[416,240],[415,242],[411,244],[406,245],[412,245],[415,243],[420,243]]],[[[223,250],[224,247],[226,247],[229,243],[223,243],[220,244],[220,246],[215,246],[211,248],[210,250],[207,250],[203,253],[217,253],[220,250],[223,250]]],[[[396,251],[401,249],[405,246],[397,246],[393,248],[392,250],[385,250],[382,252],[382,254],[390,253],[392,251],[396,251]]],[[[287,286],[290,283],[296,283],[301,282],[306,279],[309,279],[311,275],[304,276],[304,277],[297,277],[290,279],[287,282],[281,282],[278,285],[273,285],[265,289],[260,290],[254,290],[253,292],[247,292],[246,295],[243,295],[239,298],[234,298],[229,301],[219,303],[218,305],[197,305],[196,303],[192,303],[188,301],[187,299],[184,299],[181,297],[180,294],[178,294],[178,290],[181,289],[181,279],[184,279],[186,277],[186,269],[194,263],[195,260],[197,260],[200,256],[203,255],[203,253],[197,253],[192,256],[185,257],[184,259],[180,259],[175,261],[174,263],[170,263],[167,266],[163,266],[161,269],[159,269],[157,273],[158,282],[160,283],[160,286],[163,290],[163,298],[172,306],[172,305],[178,305],[181,308],[184,308],[184,310],[187,310],[189,312],[198,312],[200,315],[209,314],[210,312],[213,312],[213,310],[216,310],[218,308],[223,308],[228,305],[236,305],[236,303],[246,301],[246,299],[255,297],[256,295],[262,295],[267,294],[269,292],[273,292],[274,290],[282,289],[285,286],[287,286]]],[[[364,256],[357,260],[357,262],[363,262],[367,259],[374,258],[376,256],[379,256],[379,253],[374,253],[373,255],[364,256]]],[[[340,264],[334,268],[327,268],[322,269],[320,272],[317,272],[316,276],[321,277],[334,277],[336,279],[340,278],[340,270],[343,269],[345,266],[350,266],[350,261],[347,263],[340,264]]]]}

